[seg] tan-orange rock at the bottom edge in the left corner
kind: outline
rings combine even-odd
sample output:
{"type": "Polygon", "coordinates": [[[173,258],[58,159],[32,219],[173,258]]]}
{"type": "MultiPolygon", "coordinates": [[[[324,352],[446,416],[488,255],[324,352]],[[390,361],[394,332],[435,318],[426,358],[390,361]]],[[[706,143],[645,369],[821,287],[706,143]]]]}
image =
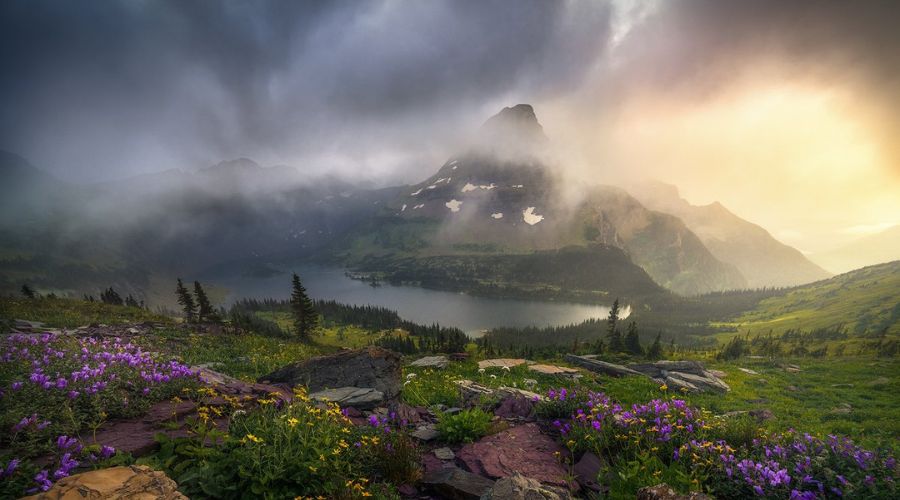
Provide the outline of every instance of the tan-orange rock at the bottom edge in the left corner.
{"type": "Polygon", "coordinates": [[[161,499],[187,500],[178,485],[165,473],[146,465],[110,467],[60,479],[49,490],[25,497],[32,500],[57,499],[161,499]]]}

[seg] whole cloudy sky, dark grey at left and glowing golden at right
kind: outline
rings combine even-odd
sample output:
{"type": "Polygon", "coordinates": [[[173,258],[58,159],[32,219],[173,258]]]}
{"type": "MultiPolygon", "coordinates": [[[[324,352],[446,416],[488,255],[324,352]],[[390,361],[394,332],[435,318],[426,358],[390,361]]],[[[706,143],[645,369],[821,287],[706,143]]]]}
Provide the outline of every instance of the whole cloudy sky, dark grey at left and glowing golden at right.
{"type": "Polygon", "coordinates": [[[0,149],[70,180],[238,156],[431,174],[535,106],[559,168],[819,251],[900,223],[900,3],[0,2],[0,149]]]}

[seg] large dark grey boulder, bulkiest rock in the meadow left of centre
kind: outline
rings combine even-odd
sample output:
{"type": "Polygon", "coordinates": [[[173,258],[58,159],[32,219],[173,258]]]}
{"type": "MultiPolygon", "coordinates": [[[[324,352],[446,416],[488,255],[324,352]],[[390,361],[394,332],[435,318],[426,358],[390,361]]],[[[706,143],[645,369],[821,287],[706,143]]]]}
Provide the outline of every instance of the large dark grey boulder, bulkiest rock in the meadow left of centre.
{"type": "Polygon", "coordinates": [[[375,389],[393,400],[402,388],[400,355],[380,347],[347,350],[282,367],[261,382],[305,385],[311,393],[341,387],[375,389]]]}

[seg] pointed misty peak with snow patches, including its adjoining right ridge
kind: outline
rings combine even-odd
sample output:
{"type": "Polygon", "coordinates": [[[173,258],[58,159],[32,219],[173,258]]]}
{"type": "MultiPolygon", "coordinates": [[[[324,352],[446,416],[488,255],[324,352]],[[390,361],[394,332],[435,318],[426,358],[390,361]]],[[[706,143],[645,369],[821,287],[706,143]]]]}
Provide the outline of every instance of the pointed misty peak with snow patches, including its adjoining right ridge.
{"type": "Polygon", "coordinates": [[[625,251],[654,280],[682,294],[746,286],[737,269],[716,259],[676,217],[647,210],[618,188],[566,185],[542,160],[546,138],[530,106],[505,108],[482,132],[468,152],[387,200],[377,225],[334,248],[341,262],[383,271],[375,262],[403,258],[409,274],[410,262],[437,255],[521,255],[600,244],[625,251]]]}

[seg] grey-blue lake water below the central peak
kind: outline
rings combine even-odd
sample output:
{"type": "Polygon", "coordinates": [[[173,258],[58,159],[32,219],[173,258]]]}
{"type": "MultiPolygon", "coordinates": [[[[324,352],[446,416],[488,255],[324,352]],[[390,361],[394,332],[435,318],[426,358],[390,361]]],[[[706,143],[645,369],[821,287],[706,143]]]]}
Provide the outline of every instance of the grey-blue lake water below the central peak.
{"type": "MultiPolygon", "coordinates": [[[[454,326],[472,336],[500,326],[568,325],[589,318],[606,318],[609,314],[609,307],[600,305],[476,297],[386,283],[372,287],[334,268],[302,267],[296,272],[313,298],[386,307],[414,323],[454,326]]],[[[291,293],[290,274],[270,277],[238,274],[220,276],[214,281],[229,289],[229,302],[243,297],[287,299],[291,293]]]]}

